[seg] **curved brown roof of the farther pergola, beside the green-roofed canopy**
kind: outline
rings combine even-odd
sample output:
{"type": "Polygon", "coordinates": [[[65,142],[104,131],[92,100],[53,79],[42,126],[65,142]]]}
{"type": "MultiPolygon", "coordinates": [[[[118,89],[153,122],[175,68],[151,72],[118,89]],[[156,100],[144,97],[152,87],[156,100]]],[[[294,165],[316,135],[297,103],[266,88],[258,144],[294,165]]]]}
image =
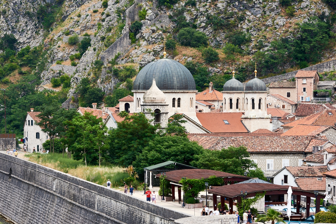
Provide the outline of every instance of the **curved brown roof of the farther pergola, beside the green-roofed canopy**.
{"type": "MultiPolygon", "coordinates": [[[[157,174],[157,177],[160,177],[161,174],[157,174]]],[[[188,179],[206,179],[209,178],[210,176],[216,176],[216,177],[235,177],[235,178],[243,178],[245,180],[251,179],[251,177],[245,177],[237,174],[232,174],[232,173],[225,173],[221,171],[216,171],[216,170],[203,170],[203,169],[185,169],[185,170],[174,170],[174,171],[169,171],[166,172],[166,179],[179,182],[182,177],[186,177],[188,179]]],[[[239,191],[240,192],[240,191],[239,191]]]]}

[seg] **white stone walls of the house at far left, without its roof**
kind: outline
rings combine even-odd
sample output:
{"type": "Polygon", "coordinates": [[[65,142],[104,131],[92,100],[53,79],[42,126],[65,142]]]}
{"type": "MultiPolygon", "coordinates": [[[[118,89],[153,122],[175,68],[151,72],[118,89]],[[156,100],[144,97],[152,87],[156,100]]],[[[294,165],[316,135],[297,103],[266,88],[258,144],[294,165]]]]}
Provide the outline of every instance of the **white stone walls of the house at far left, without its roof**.
{"type": "Polygon", "coordinates": [[[42,144],[49,138],[47,133],[44,133],[40,126],[33,121],[33,126],[28,126],[28,120],[32,121],[33,118],[27,114],[27,118],[24,125],[24,137],[28,137],[28,141],[26,141],[26,146],[29,152],[33,152],[33,148],[35,147],[35,151],[37,152],[37,146],[39,147],[39,152],[42,152],[43,147],[42,144]],[[40,138],[36,138],[36,132],[40,133],[40,138]],[[48,137],[48,138],[47,138],[48,137]]]}

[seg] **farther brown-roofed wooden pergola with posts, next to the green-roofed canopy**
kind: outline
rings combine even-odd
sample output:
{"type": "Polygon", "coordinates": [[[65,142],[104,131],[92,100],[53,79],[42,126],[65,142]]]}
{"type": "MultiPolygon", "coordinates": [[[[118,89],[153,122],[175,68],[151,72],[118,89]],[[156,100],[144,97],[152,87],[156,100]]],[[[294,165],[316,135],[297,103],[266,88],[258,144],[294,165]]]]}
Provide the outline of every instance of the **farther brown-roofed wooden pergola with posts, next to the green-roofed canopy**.
{"type": "MultiPolygon", "coordinates": [[[[156,177],[160,177],[161,174],[157,174],[156,177]]],[[[216,176],[219,178],[222,178],[224,181],[224,185],[227,185],[230,183],[233,185],[235,181],[241,182],[248,179],[251,179],[251,177],[245,177],[237,174],[232,173],[225,173],[221,171],[216,170],[203,170],[203,169],[185,169],[185,170],[174,170],[166,172],[166,179],[171,181],[171,192],[173,196],[173,201],[175,201],[175,186],[177,187],[177,193],[178,193],[178,203],[181,204],[181,184],[179,184],[180,180],[182,180],[182,177],[186,177],[187,179],[207,179],[210,176],[216,176]]]]}

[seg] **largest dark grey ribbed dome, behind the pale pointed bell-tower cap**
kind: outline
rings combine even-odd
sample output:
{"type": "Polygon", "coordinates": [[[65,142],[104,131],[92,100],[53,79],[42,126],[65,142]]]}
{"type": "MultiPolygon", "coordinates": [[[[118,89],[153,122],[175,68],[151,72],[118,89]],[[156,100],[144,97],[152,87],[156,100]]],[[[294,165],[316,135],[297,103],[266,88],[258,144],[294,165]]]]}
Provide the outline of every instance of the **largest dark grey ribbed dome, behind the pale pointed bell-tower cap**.
{"type": "Polygon", "coordinates": [[[194,77],[189,70],[168,58],[145,65],[135,78],[133,90],[148,90],[153,79],[160,90],[196,90],[194,77]]]}

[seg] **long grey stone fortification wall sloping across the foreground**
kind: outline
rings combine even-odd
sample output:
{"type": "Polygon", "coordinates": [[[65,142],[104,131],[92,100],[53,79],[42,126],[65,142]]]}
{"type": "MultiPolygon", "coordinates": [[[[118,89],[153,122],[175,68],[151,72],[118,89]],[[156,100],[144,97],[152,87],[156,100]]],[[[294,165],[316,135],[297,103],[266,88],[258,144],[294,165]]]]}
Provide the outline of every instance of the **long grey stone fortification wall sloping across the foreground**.
{"type": "Polygon", "coordinates": [[[20,224],[174,224],[190,217],[4,153],[0,186],[0,213],[20,224]]]}

